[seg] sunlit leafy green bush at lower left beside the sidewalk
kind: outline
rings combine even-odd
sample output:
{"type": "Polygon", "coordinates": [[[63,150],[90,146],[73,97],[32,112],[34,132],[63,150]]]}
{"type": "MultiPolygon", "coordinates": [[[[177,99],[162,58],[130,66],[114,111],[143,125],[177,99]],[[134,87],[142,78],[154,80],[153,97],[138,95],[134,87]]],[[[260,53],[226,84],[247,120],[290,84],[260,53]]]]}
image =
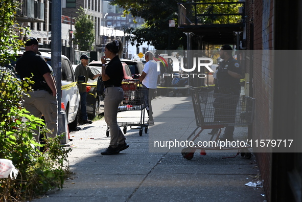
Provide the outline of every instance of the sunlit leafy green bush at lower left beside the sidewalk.
{"type": "Polygon", "coordinates": [[[28,81],[19,82],[9,71],[2,72],[0,78],[0,86],[6,86],[0,91],[0,110],[7,112],[0,116],[0,159],[11,160],[19,170],[15,180],[0,179],[0,201],[28,200],[55,187],[62,188],[68,173],[67,154],[71,151],[60,145],[63,134],[47,139],[47,149],[40,152],[33,131],[40,127],[40,135],[45,135],[49,130],[42,119],[21,107],[28,81]]]}

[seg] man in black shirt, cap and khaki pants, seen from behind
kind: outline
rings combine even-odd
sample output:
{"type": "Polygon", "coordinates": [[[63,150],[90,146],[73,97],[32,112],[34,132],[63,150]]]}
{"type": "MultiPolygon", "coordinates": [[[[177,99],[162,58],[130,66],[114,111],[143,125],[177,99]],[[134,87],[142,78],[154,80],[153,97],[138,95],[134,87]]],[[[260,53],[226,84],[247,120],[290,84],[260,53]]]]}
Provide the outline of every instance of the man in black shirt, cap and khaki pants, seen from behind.
{"type": "MultiPolygon", "coordinates": [[[[25,52],[16,62],[15,70],[21,80],[32,77],[30,97],[24,98],[24,107],[35,117],[44,116],[45,123],[52,131],[47,137],[56,137],[58,131],[57,88],[51,71],[44,58],[37,54],[39,43],[36,38],[29,37],[25,42],[25,52]]],[[[39,142],[39,131],[35,131],[35,139],[39,142]]]]}

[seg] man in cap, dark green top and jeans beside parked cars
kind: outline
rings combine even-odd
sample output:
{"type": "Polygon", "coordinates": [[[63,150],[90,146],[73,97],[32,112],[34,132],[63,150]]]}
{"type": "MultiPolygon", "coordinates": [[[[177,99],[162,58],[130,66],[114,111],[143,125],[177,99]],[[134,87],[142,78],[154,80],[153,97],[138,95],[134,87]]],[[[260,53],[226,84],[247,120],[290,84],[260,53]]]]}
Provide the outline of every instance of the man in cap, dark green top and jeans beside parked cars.
{"type": "Polygon", "coordinates": [[[81,57],[80,57],[81,64],[78,64],[78,66],[76,67],[76,70],[75,70],[75,75],[76,75],[77,80],[78,80],[79,75],[82,75],[85,77],[84,83],[78,83],[79,92],[80,92],[80,96],[81,96],[82,121],[84,124],[92,123],[92,121],[88,120],[87,111],[86,111],[86,97],[87,97],[86,83],[88,81],[88,78],[94,80],[95,78],[101,76],[101,74],[94,75],[94,73],[92,73],[91,69],[88,66],[89,58],[90,57],[88,57],[85,54],[81,55],[81,57]]]}

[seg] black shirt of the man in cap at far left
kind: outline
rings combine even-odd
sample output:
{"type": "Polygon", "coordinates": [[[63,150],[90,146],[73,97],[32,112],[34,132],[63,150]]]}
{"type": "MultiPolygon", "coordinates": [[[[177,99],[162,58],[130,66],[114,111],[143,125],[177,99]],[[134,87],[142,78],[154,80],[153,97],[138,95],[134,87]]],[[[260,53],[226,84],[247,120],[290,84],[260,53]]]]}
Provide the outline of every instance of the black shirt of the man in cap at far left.
{"type": "Polygon", "coordinates": [[[16,62],[16,72],[20,78],[31,77],[35,82],[32,85],[34,90],[43,88],[41,81],[45,82],[44,74],[51,72],[48,64],[41,55],[35,54],[33,51],[24,52],[23,56],[16,62]]]}

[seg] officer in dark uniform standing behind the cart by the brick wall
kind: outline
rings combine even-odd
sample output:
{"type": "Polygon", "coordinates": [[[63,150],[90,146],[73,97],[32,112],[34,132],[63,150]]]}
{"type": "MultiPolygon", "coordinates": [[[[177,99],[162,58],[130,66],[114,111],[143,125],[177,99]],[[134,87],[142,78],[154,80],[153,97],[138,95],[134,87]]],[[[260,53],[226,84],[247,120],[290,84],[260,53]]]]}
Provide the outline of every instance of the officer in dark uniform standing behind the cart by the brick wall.
{"type": "MultiPolygon", "coordinates": [[[[240,78],[241,78],[241,66],[239,62],[233,58],[232,56],[233,49],[229,45],[224,45],[220,49],[220,58],[223,61],[219,65],[219,69],[217,72],[217,82],[218,82],[218,94],[226,94],[226,95],[235,95],[232,99],[220,99],[220,103],[226,103],[222,106],[222,119],[219,121],[233,121],[235,122],[235,113],[238,99],[236,96],[240,95],[240,78]],[[234,99],[235,98],[235,99],[234,99]],[[224,108],[224,109],[223,109],[224,108]],[[226,120],[227,119],[227,120],[226,120]]],[[[219,96],[218,96],[219,97],[219,96]]],[[[223,97],[223,96],[221,96],[223,97]]],[[[224,97],[225,98],[225,97],[224,97]]],[[[215,114],[216,113],[215,108],[215,114]]],[[[221,141],[233,141],[233,132],[234,126],[226,126],[224,130],[223,136],[220,138],[221,141]]]]}

